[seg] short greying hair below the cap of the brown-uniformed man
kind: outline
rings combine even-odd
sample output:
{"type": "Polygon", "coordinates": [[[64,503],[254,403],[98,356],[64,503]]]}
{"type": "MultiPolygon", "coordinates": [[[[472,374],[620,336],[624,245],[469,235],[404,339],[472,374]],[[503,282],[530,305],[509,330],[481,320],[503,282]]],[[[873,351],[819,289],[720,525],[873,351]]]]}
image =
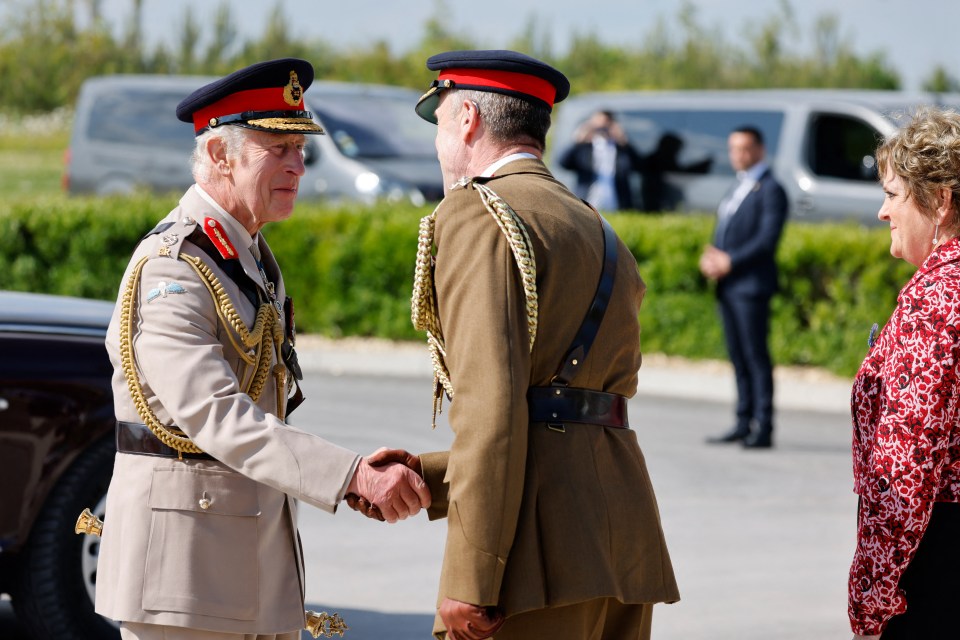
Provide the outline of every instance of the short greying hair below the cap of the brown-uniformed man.
{"type": "Polygon", "coordinates": [[[447,100],[453,115],[466,100],[477,105],[490,137],[501,143],[526,142],[544,151],[550,129],[550,110],[528,100],[492,91],[457,89],[447,100]]]}

